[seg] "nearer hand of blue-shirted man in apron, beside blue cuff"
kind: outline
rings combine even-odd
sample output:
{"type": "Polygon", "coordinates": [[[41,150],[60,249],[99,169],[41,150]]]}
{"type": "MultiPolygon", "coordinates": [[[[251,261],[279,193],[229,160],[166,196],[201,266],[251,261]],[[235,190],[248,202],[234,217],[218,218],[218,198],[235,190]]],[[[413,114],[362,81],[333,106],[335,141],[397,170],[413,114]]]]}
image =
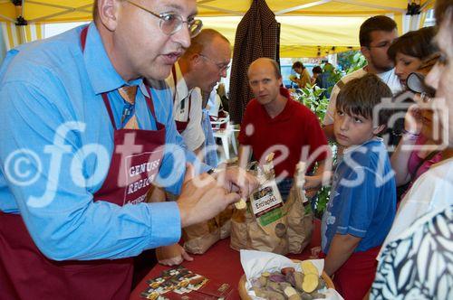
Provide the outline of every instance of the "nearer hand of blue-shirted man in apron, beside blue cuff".
{"type": "MultiPolygon", "coordinates": [[[[242,186],[244,185],[246,185],[244,189],[247,189],[245,191],[250,192],[255,186],[248,181],[242,186]]],[[[237,193],[238,188],[233,192],[232,190],[218,184],[216,179],[207,173],[195,177],[194,167],[188,164],[182,191],[177,201],[181,227],[185,228],[209,220],[220,211],[224,211],[229,204],[238,202],[241,198],[237,193]]]]}

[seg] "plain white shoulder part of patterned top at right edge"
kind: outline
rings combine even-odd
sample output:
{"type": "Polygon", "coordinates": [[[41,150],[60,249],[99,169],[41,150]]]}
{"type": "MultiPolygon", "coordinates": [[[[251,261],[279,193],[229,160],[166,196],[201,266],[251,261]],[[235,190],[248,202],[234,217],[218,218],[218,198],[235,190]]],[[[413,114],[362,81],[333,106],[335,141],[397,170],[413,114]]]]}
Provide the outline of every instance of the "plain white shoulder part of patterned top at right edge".
{"type": "MultiPolygon", "coordinates": [[[[415,220],[430,212],[453,204],[453,158],[433,164],[428,172],[410,188],[401,200],[389,235],[384,240],[381,252],[391,241],[398,239],[415,220]]],[[[381,252],[378,259],[381,257],[381,252]]]]}

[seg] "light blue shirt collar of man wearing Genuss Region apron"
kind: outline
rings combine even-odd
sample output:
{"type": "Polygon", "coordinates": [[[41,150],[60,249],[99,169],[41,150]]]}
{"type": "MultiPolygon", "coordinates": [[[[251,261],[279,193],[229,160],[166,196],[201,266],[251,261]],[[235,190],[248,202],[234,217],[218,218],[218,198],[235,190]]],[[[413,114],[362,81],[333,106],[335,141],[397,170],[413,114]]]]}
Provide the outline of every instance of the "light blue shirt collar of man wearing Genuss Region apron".
{"type": "Polygon", "coordinates": [[[96,94],[119,89],[124,85],[140,85],[142,82],[142,79],[127,82],[121,78],[113,68],[102,44],[101,35],[93,22],[88,27],[83,61],[92,89],[96,94]]]}

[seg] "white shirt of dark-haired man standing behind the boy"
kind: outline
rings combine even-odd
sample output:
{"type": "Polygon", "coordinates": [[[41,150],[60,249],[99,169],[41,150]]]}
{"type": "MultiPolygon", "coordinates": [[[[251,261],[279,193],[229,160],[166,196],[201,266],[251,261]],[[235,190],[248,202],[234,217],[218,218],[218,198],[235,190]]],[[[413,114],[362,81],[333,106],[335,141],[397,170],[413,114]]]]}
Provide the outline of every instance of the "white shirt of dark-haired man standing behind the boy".
{"type": "MultiPolygon", "coordinates": [[[[340,90],[342,89],[344,84],[346,84],[350,80],[361,78],[365,74],[367,74],[367,71],[363,70],[363,68],[359,70],[354,70],[351,74],[344,76],[342,80],[335,84],[335,86],[332,89],[329,106],[327,107],[327,111],[325,112],[325,116],[323,119],[324,126],[333,124],[333,115],[335,114],[335,106],[337,102],[338,93],[340,93],[340,90]]],[[[389,86],[389,88],[391,89],[391,93],[393,95],[397,94],[402,90],[400,80],[398,79],[398,76],[395,75],[394,69],[376,75],[378,75],[379,78],[381,78],[381,80],[384,81],[385,84],[389,86]]]]}

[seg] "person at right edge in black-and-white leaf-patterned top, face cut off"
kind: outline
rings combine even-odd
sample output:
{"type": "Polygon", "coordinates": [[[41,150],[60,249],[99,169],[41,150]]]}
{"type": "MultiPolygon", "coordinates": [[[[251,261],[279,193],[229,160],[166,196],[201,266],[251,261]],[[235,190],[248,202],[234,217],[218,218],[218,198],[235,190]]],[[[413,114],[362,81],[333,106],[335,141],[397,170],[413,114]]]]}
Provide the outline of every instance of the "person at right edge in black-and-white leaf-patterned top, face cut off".
{"type": "Polygon", "coordinates": [[[434,14],[441,54],[426,82],[436,89],[429,103],[448,114],[440,119],[448,128],[448,147],[443,161],[423,173],[402,200],[378,257],[371,299],[453,297],[453,1],[438,0],[434,14]]]}

